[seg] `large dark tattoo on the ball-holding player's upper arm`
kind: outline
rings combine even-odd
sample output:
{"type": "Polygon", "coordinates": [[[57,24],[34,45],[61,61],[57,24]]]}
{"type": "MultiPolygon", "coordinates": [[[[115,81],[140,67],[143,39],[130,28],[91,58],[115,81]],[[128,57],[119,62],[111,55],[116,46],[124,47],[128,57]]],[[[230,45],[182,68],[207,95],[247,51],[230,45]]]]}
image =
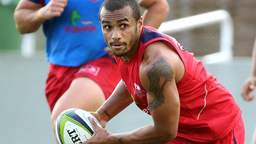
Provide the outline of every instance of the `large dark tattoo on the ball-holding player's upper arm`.
{"type": "Polygon", "coordinates": [[[149,79],[149,90],[155,94],[154,100],[148,103],[149,110],[153,111],[164,103],[163,88],[168,81],[173,79],[173,68],[163,57],[160,57],[148,71],[147,76],[149,79]]]}

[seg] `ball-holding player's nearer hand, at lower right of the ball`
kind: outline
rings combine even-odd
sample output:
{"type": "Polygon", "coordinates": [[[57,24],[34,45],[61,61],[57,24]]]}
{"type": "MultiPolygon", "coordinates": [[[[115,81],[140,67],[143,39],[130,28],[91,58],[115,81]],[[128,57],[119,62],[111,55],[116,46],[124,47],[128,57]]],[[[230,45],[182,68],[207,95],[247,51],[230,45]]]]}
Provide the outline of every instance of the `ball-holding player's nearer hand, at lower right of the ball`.
{"type": "Polygon", "coordinates": [[[94,129],[93,136],[89,140],[83,142],[82,144],[111,144],[111,133],[109,133],[106,129],[102,129],[101,127],[99,127],[96,124],[94,118],[91,118],[91,124],[94,129]]]}

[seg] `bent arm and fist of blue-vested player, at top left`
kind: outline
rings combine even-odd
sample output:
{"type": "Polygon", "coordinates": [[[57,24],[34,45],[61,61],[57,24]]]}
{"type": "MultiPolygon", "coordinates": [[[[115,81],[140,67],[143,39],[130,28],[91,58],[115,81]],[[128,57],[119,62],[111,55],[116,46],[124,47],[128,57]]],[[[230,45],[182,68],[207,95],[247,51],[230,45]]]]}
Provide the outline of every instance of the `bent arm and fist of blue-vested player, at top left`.
{"type": "Polygon", "coordinates": [[[50,18],[59,17],[67,5],[67,0],[51,0],[46,6],[30,0],[20,0],[14,11],[16,28],[20,33],[37,31],[50,18]]]}

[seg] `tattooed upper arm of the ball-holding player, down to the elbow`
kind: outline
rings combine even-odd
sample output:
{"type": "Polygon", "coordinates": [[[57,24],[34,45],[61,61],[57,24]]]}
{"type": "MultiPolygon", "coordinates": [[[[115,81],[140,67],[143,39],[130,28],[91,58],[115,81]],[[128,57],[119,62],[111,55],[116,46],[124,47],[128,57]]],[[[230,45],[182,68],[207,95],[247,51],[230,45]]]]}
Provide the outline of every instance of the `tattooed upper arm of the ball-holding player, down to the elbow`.
{"type": "Polygon", "coordinates": [[[180,114],[180,100],[174,77],[173,67],[164,57],[159,57],[141,74],[154,126],[172,134],[177,133],[180,114]]]}

